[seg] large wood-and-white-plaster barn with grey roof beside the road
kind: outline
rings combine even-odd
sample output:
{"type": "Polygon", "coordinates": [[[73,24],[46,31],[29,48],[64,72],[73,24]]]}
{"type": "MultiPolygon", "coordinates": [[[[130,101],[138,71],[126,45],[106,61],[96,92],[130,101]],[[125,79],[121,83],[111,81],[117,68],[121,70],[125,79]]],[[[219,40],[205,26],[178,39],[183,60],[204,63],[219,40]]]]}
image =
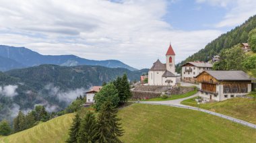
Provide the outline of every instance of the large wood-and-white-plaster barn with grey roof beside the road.
{"type": "Polygon", "coordinates": [[[197,75],[203,101],[223,101],[251,92],[251,77],[242,70],[205,70],[197,75]]]}

